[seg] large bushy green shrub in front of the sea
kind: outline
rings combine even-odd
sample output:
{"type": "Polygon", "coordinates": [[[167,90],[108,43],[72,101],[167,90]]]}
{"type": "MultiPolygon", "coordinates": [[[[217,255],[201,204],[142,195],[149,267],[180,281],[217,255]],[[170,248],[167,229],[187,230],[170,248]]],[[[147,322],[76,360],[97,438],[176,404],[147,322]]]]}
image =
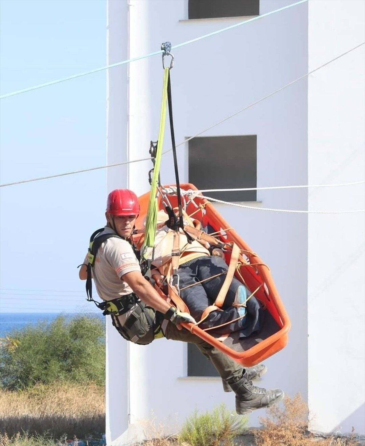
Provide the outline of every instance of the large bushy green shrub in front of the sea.
{"type": "Polygon", "coordinates": [[[55,381],[105,383],[104,321],[59,316],[13,330],[0,344],[0,386],[9,390],[55,381]]]}

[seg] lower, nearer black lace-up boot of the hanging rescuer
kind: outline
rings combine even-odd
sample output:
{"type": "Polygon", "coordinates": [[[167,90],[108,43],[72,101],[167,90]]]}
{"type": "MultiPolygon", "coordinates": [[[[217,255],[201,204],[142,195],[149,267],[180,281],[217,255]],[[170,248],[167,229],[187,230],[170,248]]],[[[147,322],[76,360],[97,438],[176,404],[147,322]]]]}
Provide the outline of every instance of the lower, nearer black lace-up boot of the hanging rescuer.
{"type": "Polygon", "coordinates": [[[236,412],[240,415],[250,413],[255,409],[270,407],[284,397],[281,389],[266,390],[254,386],[246,372],[238,381],[230,383],[230,386],[236,394],[236,412]]]}

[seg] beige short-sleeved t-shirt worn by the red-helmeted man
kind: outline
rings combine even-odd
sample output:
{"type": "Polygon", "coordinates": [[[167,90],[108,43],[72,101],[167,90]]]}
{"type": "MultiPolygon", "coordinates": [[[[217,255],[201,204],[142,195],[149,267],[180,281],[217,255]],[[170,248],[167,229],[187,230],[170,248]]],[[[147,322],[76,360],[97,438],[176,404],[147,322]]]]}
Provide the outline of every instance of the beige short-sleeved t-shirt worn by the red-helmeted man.
{"type": "MultiPolygon", "coordinates": [[[[115,231],[106,226],[101,234],[115,234],[115,231]]],[[[87,264],[87,257],[84,263],[87,264]]],[[[132,293],[133,290],[127,282],[120,279],[132,271],[140,272],[141,268],[131,244],[117,237],[105,240],[98,249],[92,268],[98,295],[106,301],[111,301],[132,293]]]]}

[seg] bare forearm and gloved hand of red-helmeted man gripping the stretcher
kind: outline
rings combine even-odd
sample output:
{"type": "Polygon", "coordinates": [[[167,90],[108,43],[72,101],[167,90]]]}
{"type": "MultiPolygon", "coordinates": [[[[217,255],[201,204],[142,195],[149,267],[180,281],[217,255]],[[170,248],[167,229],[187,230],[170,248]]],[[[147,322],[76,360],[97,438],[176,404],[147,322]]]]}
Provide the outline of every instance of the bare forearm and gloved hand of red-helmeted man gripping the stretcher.
{"type": "Polygon", "coordinates": [[[159,293],[152,287],[152,285],[146,281],[146,279],[142,276],[139,271],[132,271],[131,273],[124,274],[121,279],[126,281],[127,284],[131,287],[131,289],[137,294],[137,296],[143,301],[146,305],[151,306],[160,313],[166,314],[167,317],[173,323],[180,322],[192,322],[196,323],[194,318],[190,316],[188,313],[181,313],[179,310],[172,311],[171,305],[169,305],[162,297],[160,297],[159,293]]]}

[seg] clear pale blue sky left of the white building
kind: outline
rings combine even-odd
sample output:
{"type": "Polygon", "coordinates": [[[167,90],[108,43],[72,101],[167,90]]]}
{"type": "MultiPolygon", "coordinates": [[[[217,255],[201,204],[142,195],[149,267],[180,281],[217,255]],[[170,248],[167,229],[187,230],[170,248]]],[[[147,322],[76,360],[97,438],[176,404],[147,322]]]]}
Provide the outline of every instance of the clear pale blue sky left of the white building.
{"type": "MultiPolygon", "coordinates": [[[[0,94],[106,65],[105,0],[1,0],[0,94]]],[[[106,165],[106,72],[0,101],[1,184],[106,165]]],[[[96,310],[78,280],[106,170],[0,188],[0,311],[96,310]]]]}

